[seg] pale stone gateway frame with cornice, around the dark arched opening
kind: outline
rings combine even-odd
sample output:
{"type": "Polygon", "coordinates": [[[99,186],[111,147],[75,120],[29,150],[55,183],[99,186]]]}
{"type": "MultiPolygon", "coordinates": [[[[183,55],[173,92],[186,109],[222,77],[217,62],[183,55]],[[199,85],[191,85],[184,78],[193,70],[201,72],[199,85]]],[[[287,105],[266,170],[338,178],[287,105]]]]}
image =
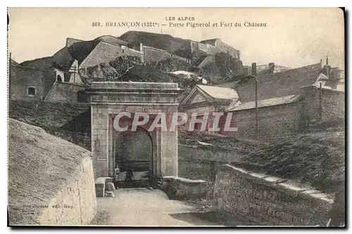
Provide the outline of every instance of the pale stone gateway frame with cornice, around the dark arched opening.
{"type": "MultiPolygon", "coordinates": [[[[94,177],[113,177],[113,118],[121,112],[165,115],[177,112],[175,83],[92,82],[86,89],[92,105],[92,160],[94,177]]],[[[156,178],[177,176],[177,131],[149,132],[153,148],[152,172],[156,178]]]]}

